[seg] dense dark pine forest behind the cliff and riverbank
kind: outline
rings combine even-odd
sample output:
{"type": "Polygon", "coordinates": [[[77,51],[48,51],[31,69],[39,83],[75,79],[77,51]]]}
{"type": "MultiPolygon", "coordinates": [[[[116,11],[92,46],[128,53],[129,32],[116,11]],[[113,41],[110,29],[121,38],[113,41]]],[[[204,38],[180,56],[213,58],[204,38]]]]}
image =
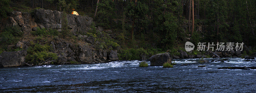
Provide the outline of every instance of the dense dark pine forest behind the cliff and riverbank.
{"type": "MultiPolygon", "coordinates": [[[[255,48],[255,0],[1,0],[8,12],[36,8],[93,17],[118,34],[122,49],[166,52],[184,43],[244,42],[255,48]]],[[[135,59],[135,58],[134,58],[135,59]]]]}

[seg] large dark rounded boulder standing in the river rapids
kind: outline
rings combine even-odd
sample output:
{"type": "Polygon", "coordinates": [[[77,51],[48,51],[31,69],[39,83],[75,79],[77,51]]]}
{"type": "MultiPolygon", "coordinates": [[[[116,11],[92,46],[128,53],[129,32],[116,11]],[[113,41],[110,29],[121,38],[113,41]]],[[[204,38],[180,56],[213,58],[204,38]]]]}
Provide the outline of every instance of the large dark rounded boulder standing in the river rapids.
{"type": "Polygon", "coordinates": [[[150,66],[163,66],[165,62],[172,63],[172,58],[169,53],[156,54],[151,56],[149,59],[150,66]]]}

